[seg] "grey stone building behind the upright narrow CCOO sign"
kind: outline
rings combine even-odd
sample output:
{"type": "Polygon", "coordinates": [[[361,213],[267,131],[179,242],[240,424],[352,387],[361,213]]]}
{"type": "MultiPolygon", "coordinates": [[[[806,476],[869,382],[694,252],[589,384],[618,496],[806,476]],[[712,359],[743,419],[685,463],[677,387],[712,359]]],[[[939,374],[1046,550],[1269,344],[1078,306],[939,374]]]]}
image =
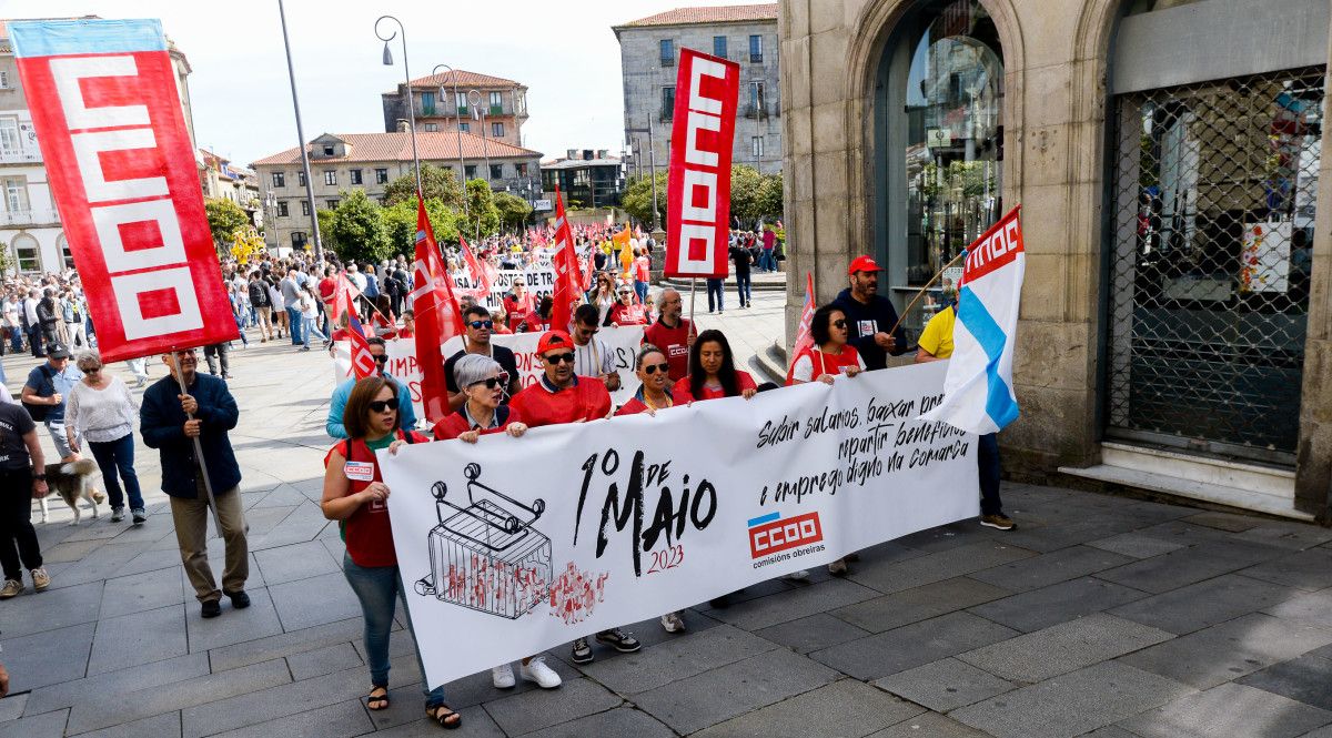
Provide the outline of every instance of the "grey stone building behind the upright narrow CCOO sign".
{"type": "Polygon", "coordinates": [[[625,84],[625,136],[647,171],[670,161],[679,49],[741,65],[734,164],[765,175],[782,171],[782,95],[778,91],[777,4],[678,8],[613,28],[625,84]],[[649,135],[649,129],[651,133],[649,135]],[[655,152],[651,151],[651,148],[655,152]]]}

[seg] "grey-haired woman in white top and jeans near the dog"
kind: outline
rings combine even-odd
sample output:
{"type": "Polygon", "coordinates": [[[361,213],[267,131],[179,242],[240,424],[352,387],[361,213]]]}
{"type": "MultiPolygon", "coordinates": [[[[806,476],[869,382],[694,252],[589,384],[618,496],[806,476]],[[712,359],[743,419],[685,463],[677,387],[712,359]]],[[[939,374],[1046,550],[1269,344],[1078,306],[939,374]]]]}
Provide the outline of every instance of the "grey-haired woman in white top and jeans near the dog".
{"type": "Polygon", "coordinates": [[[83,372],[83,380],[69,390],[65,401],[65,434],[69,448],[77,452],[79,440],[88,441],[88,448],[101,469],[107,494],[111,497],[111,520],[113,522],[125,520],[125,494],[128,494],[135,525],[141,525],[148,520],[148,514],[144,512],[144,497],[139,492],[139,477],[135,474],[135,420],[139,417],[139,408],[125,382],[120,381],[120,377],[107,374],[97,352],[80,353],[75,366],[83,372]],[[125,485],[124,492],[120,489],[121,482],[125,485]]]}

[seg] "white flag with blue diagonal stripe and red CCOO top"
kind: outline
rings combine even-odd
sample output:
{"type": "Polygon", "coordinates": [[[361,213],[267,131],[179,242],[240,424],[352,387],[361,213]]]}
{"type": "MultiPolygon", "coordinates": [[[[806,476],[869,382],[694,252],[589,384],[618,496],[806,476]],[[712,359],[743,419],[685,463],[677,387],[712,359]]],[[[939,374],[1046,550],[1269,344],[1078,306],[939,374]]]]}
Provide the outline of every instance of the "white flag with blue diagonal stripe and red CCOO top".
{"type": "Polygon", "coordinates": [[[996,433],[1018,420],[1012,348],[1027,265],[1019,209],[1010,210],[967,249],[943,402],[920,420],[980,434],[996,433]]]}

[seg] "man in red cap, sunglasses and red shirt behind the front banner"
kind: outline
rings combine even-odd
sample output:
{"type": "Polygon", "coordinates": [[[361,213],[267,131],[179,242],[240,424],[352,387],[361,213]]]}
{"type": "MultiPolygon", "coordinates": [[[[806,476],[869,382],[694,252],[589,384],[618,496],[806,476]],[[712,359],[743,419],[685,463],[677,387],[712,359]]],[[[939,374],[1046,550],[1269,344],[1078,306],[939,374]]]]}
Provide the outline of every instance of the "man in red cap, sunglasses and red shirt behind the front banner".
{"type": "MultiPolygon", "coordinates": [[[[519,392],[509,401],[531,428],[558,425],[562,422],[583,422],[610,417],[610,393],[606,385],[587,377],[574,374],[574,340],[563,330],[547,330],[537,342],[537,356],[541,357],[541,378],[519,392]]],[[[619,653],[634,653],[642,649],[631,634],[618,627],[597,633],[597,642],[606,643],[619,653]]],[[[587,638],[578,638],[573,645],[573,662],[590,663],[591,646],[587,638]]]]}

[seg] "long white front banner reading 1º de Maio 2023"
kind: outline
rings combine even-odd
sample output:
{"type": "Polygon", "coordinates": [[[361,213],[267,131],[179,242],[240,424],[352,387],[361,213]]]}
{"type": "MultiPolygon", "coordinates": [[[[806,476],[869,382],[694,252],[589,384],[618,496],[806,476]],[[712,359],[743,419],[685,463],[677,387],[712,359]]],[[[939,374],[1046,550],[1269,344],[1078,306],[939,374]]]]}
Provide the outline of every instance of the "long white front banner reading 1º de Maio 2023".
{"type": "Polygon", "coordinates": [[[975,517],[946,364],[380,453],[426,681],[975,517]]]}

